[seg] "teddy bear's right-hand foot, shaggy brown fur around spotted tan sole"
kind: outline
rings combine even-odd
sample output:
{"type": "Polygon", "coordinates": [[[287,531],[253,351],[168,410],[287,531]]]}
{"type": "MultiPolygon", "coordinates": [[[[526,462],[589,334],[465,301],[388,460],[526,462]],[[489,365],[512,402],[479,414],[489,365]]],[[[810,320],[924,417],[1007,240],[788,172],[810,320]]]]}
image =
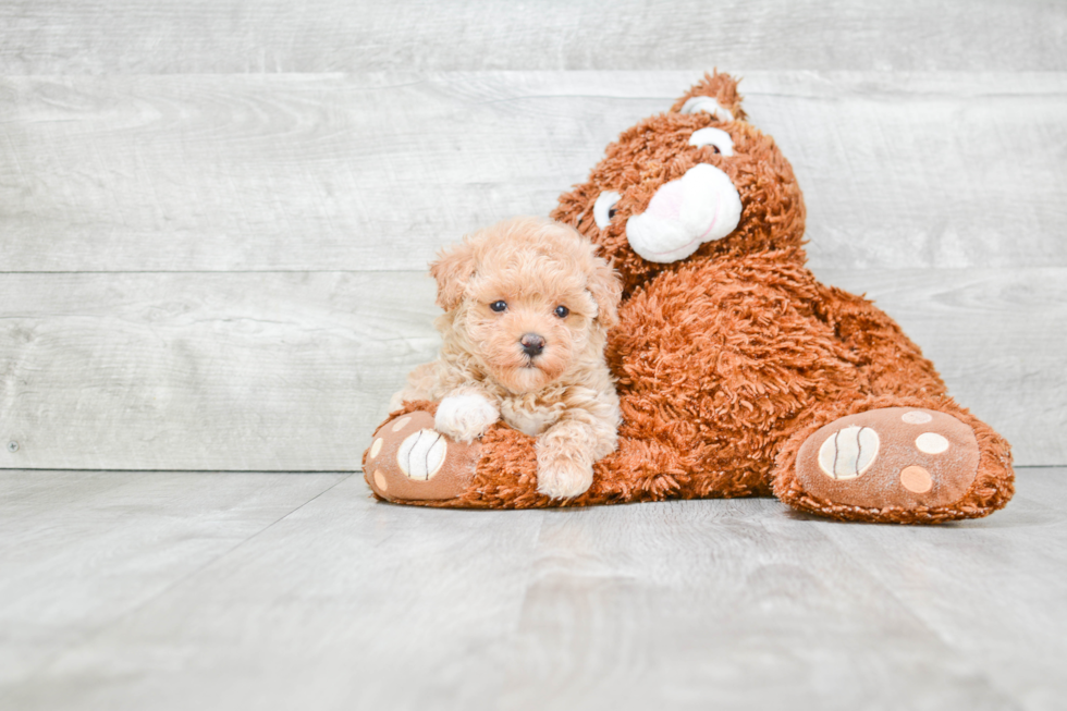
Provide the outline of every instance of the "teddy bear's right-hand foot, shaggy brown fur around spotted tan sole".
{"type": "Polygon", "coordinates": [[[1007,442],[948,397],[871,397],[800,428],[775,462],[785,503],[843,520],[986,516],[1014,493],[1007,442]]]}

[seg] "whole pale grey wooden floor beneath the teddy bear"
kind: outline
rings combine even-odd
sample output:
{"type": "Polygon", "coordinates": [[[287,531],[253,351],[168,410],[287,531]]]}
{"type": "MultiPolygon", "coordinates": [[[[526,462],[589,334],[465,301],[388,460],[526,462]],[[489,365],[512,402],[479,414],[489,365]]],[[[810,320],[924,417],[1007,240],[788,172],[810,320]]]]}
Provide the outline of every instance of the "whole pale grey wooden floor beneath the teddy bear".
{"type": "Polygon", "coordinates": [[[0,473],[0,611],[21,633],[0,650],[50,645],[4,670],[0,703],[1052,711],[1067,694],[1064,468],[934,528],[770,499],[427,511],[334,478],[0,473]]]}

